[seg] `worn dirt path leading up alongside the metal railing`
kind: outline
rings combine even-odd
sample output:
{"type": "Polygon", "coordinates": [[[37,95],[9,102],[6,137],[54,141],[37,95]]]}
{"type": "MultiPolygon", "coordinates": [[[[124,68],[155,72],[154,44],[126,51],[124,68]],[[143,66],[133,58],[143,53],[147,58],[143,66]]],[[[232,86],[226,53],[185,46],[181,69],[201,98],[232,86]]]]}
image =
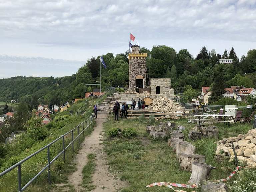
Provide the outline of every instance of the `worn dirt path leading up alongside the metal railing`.
{"type": "Polygon", "coordinates": [[[69,176],[68,181],[77,192],[82,190],[80,186],[83,179],[82,170],[87,163],[87,155],[89,153],[96,154],[95,163],[97,164],[95,173],[92,176],[92,184],[96,185],[96,189],[92,190],[92,192],[115,192],[125,185],[125,182],[120,181],[109,172],[109,166],[103,151],[103,122],[107,121],[107,117],[108,114],[103,111],[98,113],[94,131],[85,138],[79,153],[75,157],[77,170],[69,176]]]}

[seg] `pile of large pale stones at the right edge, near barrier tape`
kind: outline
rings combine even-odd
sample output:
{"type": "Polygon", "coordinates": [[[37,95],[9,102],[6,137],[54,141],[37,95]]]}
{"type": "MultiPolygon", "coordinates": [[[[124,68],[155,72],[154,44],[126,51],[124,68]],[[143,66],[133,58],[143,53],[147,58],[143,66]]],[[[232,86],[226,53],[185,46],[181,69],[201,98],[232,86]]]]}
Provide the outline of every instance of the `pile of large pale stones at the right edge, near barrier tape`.
{"type": "Polygon", "coordinates": [[[237,137],[223,138],[218,141],[215,155],[219,158],[229,157],[233,161],[235,156],[231,144],[233,141],[238,161],[247,162],[248,166],[256,166],[256,129],[251,129],[246,134],[237,137]]]}

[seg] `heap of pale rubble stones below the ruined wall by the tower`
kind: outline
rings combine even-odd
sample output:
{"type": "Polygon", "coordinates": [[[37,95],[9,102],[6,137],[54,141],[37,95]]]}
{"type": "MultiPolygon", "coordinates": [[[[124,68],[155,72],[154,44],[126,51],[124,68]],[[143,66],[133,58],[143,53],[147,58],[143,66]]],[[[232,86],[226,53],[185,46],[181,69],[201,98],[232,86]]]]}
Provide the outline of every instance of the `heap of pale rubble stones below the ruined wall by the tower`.
{"type": "Polygon", "coordinates": [[[166,113],[183,113],[184,107],[179,103],[174,102],[166,97],[160,97],[155,99],[150,105],[152,110],[164,110],[166,113]]]}

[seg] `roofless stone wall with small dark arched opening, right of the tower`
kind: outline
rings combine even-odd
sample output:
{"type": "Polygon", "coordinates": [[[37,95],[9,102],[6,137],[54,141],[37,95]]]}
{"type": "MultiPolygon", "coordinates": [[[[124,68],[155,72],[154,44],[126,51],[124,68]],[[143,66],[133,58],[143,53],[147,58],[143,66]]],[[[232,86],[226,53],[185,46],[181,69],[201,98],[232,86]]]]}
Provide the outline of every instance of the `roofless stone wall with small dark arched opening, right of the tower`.
{"type": "Polygon", "coordinates": [[[174,89],[171,88],[171,79],[150,79],[151,99],[155,100],[159,97],[167,97],[173,99],[174,89]],[[156,94],[156,87],[160,86],[160,94],[156,94]]]}

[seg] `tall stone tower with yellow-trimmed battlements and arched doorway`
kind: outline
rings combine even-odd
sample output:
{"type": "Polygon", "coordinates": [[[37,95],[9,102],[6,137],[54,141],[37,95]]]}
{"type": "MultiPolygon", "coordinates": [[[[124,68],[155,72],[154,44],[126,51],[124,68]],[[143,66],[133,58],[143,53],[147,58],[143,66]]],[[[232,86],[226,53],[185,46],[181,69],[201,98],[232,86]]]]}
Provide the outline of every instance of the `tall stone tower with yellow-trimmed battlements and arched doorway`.
{"type": "Polygon", "coordinates": [[[129,89],[139,91],[138,88],[146,88],[146,65],[147,53],[140,53],[140,46],[133,45],[132,53],[128,55],[129,59],[129,89]]]}

